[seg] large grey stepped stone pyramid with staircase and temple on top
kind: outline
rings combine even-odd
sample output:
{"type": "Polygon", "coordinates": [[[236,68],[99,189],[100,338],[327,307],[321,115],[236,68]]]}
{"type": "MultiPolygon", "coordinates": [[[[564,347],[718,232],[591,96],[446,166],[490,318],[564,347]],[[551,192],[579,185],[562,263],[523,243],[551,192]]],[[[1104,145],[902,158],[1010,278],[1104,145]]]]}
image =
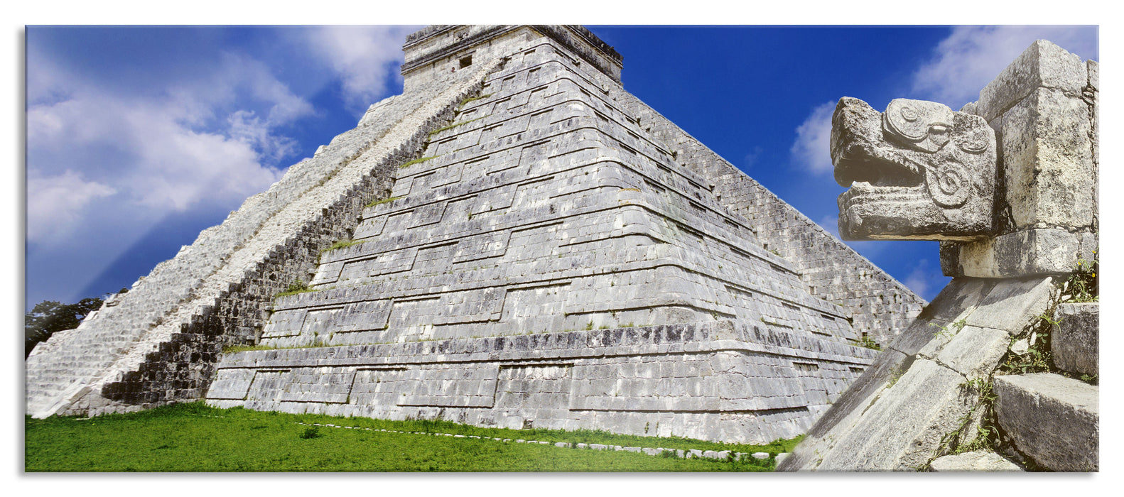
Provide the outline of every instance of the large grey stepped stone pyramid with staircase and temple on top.
{"type": "MultiPolygon", "coordinates": [[[[228,255],[130,335],[147,350],[39,396],[36,368],[111,334],[112,308],[37,349],[33,414],[205,397],[768,442],[807,430],[874,358],[858,341],[924,304],[625,92],[581,27],[434,26],[405,51],[402,96],[211,228],[228,255]],[[225,235],[248,216],[255,233],[225,235]],[[237,343],[256,346],[218,353],[237,343]]],[[[171,265],[194,270],[203,235],[171,265]]]]}

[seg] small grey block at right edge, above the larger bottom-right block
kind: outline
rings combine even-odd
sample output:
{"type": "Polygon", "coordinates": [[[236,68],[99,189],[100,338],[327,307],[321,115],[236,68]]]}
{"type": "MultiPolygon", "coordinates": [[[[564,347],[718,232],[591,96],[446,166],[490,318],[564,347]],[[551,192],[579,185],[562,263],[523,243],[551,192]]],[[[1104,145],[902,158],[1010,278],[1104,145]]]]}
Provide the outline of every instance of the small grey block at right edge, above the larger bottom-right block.
{"type": "Polygon", "coordinates": [[[1059,369],[1099,374],[1100,361],[1100,304],[1062,304],[1054,311],[1050,349],[1059,369]]]}

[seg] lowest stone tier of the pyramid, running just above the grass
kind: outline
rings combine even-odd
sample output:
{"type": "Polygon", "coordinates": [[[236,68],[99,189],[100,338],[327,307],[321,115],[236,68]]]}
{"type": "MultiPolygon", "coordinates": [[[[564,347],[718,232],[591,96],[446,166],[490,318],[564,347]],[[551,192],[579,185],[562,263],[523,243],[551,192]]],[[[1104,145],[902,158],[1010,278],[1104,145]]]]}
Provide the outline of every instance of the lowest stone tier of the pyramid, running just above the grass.
{"type": "Polygon", "coordinates": [[[874,351],[744,322],[228,354],[208,404],[768,443],[874,351]]]}

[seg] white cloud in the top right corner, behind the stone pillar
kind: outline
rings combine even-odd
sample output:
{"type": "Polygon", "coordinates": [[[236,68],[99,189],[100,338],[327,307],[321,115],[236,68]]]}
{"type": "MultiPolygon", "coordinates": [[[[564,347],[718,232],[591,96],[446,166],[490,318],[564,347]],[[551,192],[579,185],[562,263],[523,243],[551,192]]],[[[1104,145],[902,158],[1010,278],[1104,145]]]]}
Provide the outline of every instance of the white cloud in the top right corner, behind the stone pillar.
{"type": "Polygon", "coordinates": [[[914,73],[913,91],[916,98],[958,109],[977,100],[980,89],[1035,39],[1049,39],[1084,58],[1098,56],[1097,33],[1090,27],[960,26],[914,73]]]}

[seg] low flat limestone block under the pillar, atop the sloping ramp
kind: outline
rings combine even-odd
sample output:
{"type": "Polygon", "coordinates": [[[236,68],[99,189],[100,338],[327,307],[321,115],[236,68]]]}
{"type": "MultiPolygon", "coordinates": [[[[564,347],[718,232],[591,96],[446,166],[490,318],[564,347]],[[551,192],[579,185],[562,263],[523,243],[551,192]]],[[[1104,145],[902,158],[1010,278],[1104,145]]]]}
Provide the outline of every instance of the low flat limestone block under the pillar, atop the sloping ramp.
{"type": "Polygon", "coordinates": [[[952,275],[1022,278],[1077,266],[1080,238],[1064,229],[1030,228],[960,245],[952,275]]]}

